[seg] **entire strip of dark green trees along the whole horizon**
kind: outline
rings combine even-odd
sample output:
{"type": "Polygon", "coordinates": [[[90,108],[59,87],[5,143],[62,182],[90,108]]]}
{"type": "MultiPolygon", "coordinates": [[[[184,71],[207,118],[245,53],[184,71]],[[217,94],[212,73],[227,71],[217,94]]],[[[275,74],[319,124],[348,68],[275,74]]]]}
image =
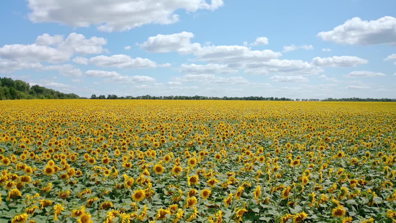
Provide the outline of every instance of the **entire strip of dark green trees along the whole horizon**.
{"type": "MultiPolygon", "coordinates": [[[[0,77],[0,100],[15,100],[15,99],[87,99],[80,97],[77,94],[65,94],[57,90],[33,85],[30,87],[29,83],[21,80],[13,80],[9,77],[0,77]]],[[[328,102],[396,102],[396,99],[390,98],[326,98],[323,100],[315,98],[307,99],[291,99],[291,98],[277,98],[277,97],[206,97],[206,96],[122,96],[118,97],[114,94],[96,96],[92,94],[90,99],[153,99],[153,100],[253,100],[253,101],[328,101],[328,102]]]]}

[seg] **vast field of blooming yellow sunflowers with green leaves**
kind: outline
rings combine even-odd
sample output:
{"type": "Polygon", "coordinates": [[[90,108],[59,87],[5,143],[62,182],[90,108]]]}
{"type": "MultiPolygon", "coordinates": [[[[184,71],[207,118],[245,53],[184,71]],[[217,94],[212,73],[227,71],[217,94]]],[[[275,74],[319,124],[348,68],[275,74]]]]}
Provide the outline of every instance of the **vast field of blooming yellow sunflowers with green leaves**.
{"type": "Polygon", "coordinates": [[[396,222],[396,103],[0,101],[0,223],[396,222]]]}

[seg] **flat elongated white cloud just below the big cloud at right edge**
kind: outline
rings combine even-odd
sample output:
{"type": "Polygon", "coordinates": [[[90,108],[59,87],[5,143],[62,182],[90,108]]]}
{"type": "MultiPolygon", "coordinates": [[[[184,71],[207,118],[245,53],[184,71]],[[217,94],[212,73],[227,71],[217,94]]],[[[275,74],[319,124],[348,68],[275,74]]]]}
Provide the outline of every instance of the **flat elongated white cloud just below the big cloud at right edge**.
{"type": "Polygon", "coordinates": [[[357,65],[366,64],[368,61],[356,56],[333,56],[312,59],[312,64],[319,67],[355,67],[357,65]]]}

